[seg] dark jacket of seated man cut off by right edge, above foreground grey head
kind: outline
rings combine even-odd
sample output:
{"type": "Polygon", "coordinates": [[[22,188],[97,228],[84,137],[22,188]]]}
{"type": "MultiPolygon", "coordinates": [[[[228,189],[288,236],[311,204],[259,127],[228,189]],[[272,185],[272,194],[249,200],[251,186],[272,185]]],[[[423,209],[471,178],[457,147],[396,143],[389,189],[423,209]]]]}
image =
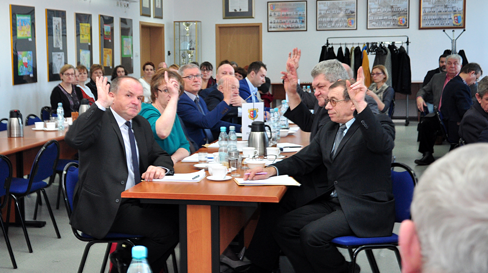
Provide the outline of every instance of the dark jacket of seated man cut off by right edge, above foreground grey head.
{"type": "Polygon", "coordinates": [[[476,143],[480,140],[483,130],[488,128],[488,113],[481,108],[478,100],[464,114],[459,125],[459,136],[463,137],[466,143],[476,143]]]}

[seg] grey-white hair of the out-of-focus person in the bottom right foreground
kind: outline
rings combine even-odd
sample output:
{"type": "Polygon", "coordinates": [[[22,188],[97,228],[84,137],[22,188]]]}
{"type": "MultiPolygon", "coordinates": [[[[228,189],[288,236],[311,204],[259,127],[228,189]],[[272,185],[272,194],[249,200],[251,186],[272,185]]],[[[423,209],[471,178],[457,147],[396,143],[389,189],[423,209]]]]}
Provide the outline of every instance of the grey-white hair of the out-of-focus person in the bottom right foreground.
{"type": "Polygon", "coordinates": [[[488,272],[487,143],[460,147],[422,175],[411,206],[423,272],[488,272]]]}

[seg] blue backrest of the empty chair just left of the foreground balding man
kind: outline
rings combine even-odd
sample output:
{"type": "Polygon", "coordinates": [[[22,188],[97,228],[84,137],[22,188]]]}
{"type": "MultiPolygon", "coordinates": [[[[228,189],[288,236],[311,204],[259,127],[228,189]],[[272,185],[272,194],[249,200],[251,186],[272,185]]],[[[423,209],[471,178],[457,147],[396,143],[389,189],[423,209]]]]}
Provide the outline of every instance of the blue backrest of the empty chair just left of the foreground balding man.
{"type": "Polygon", "coordinates": [[[30,169],[29,185],[25,194],[30,192],[32,182],[49,178],[48,185],[51,185],[56,174],[56,165],[59,159],[59,143],[55,139],[47,141],[37,152],[34,163],[30,169]]]}

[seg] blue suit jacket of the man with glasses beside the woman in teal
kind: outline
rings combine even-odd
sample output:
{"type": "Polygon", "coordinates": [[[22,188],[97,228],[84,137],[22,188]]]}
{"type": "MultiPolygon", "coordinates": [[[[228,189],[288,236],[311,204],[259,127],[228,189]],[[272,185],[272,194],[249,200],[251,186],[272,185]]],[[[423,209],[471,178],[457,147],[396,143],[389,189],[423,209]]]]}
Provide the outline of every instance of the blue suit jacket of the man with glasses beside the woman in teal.
{"type": "Polygon", "coordinates": [[[200,106],[202,107],[205,115],[198,111],[195,102],[183,93],[178,99],[178,116],[183,120],[185,124],[188,136],[193,139],[200,147],[205,144],[205,133],[203,129],[210,129],[212,133],[218,134],[220,127],[224,126],[229,130],[229,126],[235,126],[236,132],[241,131],[241,126],[238,124],[232,124],[223,122],[221,119],[231,110],[231,107],[226,102],[220,102],[214,110],[207,109],[207,105],[204,100],[200,100],[200,106]]]}

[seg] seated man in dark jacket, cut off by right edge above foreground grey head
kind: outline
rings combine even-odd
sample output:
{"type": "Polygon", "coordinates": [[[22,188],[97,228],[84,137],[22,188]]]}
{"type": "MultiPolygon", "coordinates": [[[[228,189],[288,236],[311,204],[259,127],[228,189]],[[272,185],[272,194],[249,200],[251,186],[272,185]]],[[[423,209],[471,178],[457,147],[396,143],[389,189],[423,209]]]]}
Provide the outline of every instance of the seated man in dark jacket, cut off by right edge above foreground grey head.
{"type": "Polygon", "coordinates": [[[459,125],[459,136],[468,144],[479,142],[482,132],[488,129],[488,77],[480,81],[475,97],[459,125]]]}

